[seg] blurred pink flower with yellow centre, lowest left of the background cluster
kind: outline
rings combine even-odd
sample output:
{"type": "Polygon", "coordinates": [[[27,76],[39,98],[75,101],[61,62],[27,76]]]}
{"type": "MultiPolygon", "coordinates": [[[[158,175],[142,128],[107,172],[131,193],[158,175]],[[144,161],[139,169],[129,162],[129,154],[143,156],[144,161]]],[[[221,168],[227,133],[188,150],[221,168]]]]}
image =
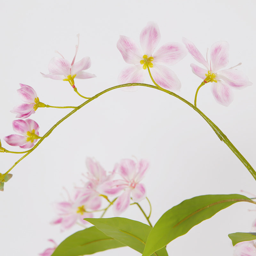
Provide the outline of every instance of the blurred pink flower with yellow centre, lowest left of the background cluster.
{"type": "Polygon", "coordinates": [[[92,218],[93,215],[88,210],[97,210],[100,207],[99,201],[93,200],[88,194],[81,193],[77,190],[73,200],[55,204],[59,217],[52,221],[52,224],[61,224],[61,230],[72,227],[77,220],[83,224],[87,221],[84,218],[92,218]]]}

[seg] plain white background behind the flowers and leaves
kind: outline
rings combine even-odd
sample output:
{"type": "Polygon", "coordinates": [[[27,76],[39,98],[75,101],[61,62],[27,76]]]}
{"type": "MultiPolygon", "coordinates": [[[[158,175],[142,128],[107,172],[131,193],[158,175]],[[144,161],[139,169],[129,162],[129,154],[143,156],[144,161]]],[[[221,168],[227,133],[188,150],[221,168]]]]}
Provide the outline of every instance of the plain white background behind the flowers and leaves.
{"type": "MultiPolygon", "coordinates": [[[[116,48],[119,35],[139,35],[148,21],[159,25],[161,41],[180,42],[182,36],[194,42],[205,56],[207,47],[220,40],[230,45],[228,67],[243,70],[253,83],[235,90],[229,107],[218,105],[206,84],[198,94],[197,106],[215,122],[256,167],[255,158],[255,1],[2,1],[0,9],[0,138],[12,134],[15,105],[21,103],[16,92],[19,83],[32,86],[45,104],[79,105],[83,100],[68,82],[44,78],[48,63],[58,50],[72,60],[80,33],[77,61],[90,56],[88,70],[97,77],[76,79],[81,94],[92,96],[117,85],[117,76],[128,66],[116,48]]],[[[200,78],[191,72],[187,55],[172,66],[180,78],[180,96],[193,102],[200,78]]],[[[148,79],[146,82],[150,83],[148,79]]],[[[31,116],[43,135],[69,110],[38,109],[31,116]]],[[[136,156],[150,161],[144,179],[153,211],[151,221],[172,206],[193,196],[241,193],[256,194],[255,180],[221,142],[210,126],[193,109],[179,100],[150,88],[136,92],[111,91],[89,103],[59,125],[44,142],[13,170],[12,179],[0,193],[0,254],[29,255],[43,252],[52,238],[60,243],[79,226],[60,232],[50,225],[56,217],[53,202],[63,200],[63,187],[72,193],[82,185],[86,156],[95,157],[107,171],[122,158],[136,156]]],[[[1,172],[8,170],[19,155],[1,153],[1,172]]],[[[248,194],[245,194],[249,196],[248,194]]],[[[146,211],[148,205],[142,203],[146,211]]],[[[169,255],[232,255],[228,233],[248,232],[256,218],[254,205],[237,203],[212,219],[192,228],[188,234],[167,246],[169,255]]],[[[106,217],[112,217],[112,210],[106,217]]],[[[131,206],[121,217],[143,221],[131,206]]],[[[120,248],[99,255],[140,255],[120,248]]],[[[97,255],[98,255],[97,254],[97,255]]]]}

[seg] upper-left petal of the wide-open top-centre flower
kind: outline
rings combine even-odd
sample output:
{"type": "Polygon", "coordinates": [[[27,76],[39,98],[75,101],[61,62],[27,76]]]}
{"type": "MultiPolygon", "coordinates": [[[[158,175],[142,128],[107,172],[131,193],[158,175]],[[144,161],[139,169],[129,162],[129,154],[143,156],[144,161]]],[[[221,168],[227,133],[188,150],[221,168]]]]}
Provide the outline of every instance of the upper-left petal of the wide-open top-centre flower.
{"type": "Polygon", "coordinates": [[[116,44],[117,49],[121,52],[123,59],[128,64],[139,64],[142,60],[143,53],[138,45],[127,36],[120,36],[116,44]]]}

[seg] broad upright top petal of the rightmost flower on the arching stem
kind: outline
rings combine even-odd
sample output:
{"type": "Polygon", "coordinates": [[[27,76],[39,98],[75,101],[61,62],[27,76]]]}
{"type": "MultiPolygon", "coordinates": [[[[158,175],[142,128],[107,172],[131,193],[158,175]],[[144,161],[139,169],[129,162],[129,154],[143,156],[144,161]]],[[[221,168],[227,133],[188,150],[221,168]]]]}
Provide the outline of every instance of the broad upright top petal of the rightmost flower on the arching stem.
{"type": "Polygon", "coordinates": [[[212,72],[217,72],[228,65],[228,50],[229,45],[226,41],[212,44],[210,49],[212,72]]]}

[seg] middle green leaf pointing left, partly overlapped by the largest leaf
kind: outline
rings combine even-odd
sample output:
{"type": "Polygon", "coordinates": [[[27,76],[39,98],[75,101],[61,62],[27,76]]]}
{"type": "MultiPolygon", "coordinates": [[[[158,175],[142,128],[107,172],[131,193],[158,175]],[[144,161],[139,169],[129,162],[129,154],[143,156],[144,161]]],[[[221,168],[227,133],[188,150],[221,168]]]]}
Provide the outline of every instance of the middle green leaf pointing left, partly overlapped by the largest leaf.
{"type": "MultiPolygon", "coordinates": [[[[100,231],[107,236],[115,238],[117,241],[131,247],[132,249],[142,253],[148,238],[148,234],[152,228],[144,223],[126,218],[106,218],[91,219],[86,218],[100,231]]],[[[155,253],[157,256],[167,256],[166,249],[163,248],[155,253]]]]}

